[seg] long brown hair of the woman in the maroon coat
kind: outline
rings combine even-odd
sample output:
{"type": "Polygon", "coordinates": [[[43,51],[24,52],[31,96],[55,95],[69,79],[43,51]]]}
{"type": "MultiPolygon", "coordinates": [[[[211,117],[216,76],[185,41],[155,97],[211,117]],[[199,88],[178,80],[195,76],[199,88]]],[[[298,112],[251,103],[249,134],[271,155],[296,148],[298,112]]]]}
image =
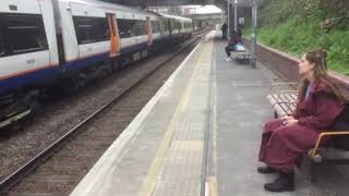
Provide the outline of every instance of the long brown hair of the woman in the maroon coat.
{"type": "MultiPolygon", "coordinates": [[[[327,72],[326,63],[327,53],[323,49],[305,52],[305,60],[310,63],[314,63],[314,78],[320,79],[322,83],[330,87],[334,95],[342,102],[347,102],[347,99],[341,95],[339,87],[333,82],[327,72]]],[[[309,81],[303,78],[300,83],[300,90],[298,100],[301,100],[305,94],[309,81]]]]}

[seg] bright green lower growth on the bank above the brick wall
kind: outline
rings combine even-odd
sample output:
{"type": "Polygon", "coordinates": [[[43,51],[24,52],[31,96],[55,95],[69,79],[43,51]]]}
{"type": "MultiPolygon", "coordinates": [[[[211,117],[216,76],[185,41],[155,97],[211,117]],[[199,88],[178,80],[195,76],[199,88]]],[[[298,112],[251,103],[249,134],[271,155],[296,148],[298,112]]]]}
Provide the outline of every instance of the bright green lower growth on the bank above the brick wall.
{"type": "MultiPolygon", "coordinates": [[[[325,33],[315,16],[308,20],[290,19],[276,27],[260,27],[257,40],[300,58],[305,51],[324,48],[328,68],[349,75],[349,30],[334,29],[325,33]]],[[[244,29],[249,36],[251,29],[244,29]]]]}

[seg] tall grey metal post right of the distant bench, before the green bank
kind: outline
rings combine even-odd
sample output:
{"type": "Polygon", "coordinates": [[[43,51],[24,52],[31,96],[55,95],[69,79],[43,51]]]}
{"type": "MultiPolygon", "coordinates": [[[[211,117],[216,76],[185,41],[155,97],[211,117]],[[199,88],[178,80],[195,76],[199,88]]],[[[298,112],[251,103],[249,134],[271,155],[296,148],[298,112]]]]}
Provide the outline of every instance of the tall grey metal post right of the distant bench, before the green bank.
{"type": "Polygon", "coordinates": [[[257,2],[253,0],[252,4],[252,35],[251,35],[251,65],[256,68],[256,38],[257,38],[257,2]]]}

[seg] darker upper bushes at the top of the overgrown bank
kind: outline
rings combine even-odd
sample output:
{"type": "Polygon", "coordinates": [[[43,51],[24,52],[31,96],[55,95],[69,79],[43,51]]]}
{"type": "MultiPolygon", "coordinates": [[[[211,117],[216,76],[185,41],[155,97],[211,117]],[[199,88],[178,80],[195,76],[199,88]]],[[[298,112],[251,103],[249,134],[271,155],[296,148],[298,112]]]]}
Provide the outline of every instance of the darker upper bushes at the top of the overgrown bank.
{"type": "Polygon", "coordinates": [[[293,17],[312,17],[330,29],[349,29],[348,0],[262,0],[258,10],[264,27],[278,26],[293,17]]]}

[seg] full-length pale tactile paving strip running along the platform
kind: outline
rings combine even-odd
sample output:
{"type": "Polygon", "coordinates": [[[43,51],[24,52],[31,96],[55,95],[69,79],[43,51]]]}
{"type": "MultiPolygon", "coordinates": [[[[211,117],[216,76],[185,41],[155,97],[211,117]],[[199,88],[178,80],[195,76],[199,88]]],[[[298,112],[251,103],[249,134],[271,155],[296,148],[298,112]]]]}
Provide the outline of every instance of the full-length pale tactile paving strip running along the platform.
{"type": "Polygon", "coordinates": [[[176,122],[172,143],[164,159],[154,196],[200,195],[213,41],[203,47],[197,71],[191,81],[191,91],[176,122]]]}

